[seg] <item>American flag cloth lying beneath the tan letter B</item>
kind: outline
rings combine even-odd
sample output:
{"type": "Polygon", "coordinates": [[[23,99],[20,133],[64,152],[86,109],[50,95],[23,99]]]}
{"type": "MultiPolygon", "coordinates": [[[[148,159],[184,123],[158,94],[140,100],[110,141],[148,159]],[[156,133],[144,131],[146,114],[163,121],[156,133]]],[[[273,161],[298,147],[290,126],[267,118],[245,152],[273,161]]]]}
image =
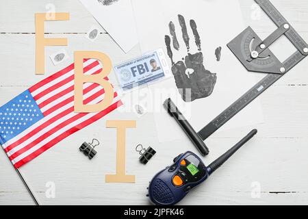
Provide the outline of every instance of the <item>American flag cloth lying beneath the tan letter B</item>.
{"type": "MultiPolygon", "coordinates": [[[[101,70],[97,60],[84,60],[85,75],[101,70]]],[[[99,103],[103,98],[104,90],[99,84],[84,83],[84,104],[99,103]]],[[[114,92],[114,101],[107,109],[75,113],[74,64],[70,64],[0,107],[0,144],[14,167],[20,168],[122,104],[114,92]]]]}

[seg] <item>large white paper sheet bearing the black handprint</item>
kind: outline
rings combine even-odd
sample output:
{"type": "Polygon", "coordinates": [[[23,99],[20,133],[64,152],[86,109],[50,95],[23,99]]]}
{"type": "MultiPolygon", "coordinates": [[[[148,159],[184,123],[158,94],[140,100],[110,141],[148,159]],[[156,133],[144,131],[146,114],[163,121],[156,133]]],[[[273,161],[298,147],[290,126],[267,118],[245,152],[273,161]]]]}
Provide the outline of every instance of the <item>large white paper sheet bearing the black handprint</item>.
{"type": "MultiPolygon", "coordinates": [[[[173,77],[168,81],[149,87],[152,96],[154,96],[152,101],[153,105],[155,105],[154,115],[159,142],[187,138],[184,134],[181,134],[175,120],[162,109],[163,101],[169,96],[172,96],[172,101],[188,118],[192,127],[198,131],[257,83],[255,73],[248,73],[235,55],[227,48],[227,43],[244,30],[238,1],[132,0],[132,3],[142,53],[164,48],[167,54],[164,38],[168,35],[171,39],[172,59],[174,62],[177,63],[187,56],[188,50],[179,24],[178,14],[181,14],[185,18],[188,36],[190,37],[189,53],[202,52],[205,68],[211,73],[216,73],[217,77],[213,92],[209,96],[196,99],[191,103],[183,101],[179,91],[177,91],[175,78],[173,77]],[[201,51],[198,51],[198,46],[196,45],[198,43],[195,43],[192,31],[194,23],[192,23],[191,27],[191,19],[196,23],[196,29],[201,39],[201,51]],[[170,21],[175,25],[177,41],[179,42],[178,51],[172,44],[172,34],[170,34],[169,29],[170,21]],[[215,55],[218,47],[222,47],[220,62],[216,60],[215,55]],[[172,91],[168,92],[168,88],[172,91]],[[159,89],[161,90],[160,92],[159,89]],[[161,96],[155,96],[157,93],[161,96]],[[160,107],[160,109],[157,110],[157,107],[160,107]]],[[[168,62],[171,67],[171,60],[168,59],[168,62]]],[[[258,100],[255,100],[218,131],[262,122],[261,105],[258,100]]]]}

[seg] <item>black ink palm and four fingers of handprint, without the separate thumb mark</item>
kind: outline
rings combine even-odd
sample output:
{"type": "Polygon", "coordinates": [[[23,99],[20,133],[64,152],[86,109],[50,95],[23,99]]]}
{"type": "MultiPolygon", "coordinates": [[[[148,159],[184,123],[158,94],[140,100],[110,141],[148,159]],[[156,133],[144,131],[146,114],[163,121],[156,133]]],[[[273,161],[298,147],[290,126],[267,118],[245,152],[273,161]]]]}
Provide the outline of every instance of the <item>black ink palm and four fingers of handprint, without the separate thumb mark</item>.
{"type": "MultiPolygon", "coordinates": [[[[201,51],[201,40],[198,34],[197,26],[194,20],[190,20],[190,27],[194,34],[194,40],[199,52],[191,54],[190,51],[190,37],[188,36],[185,18],[178,15],[179,24],[181,26],[182,37],[188,51],[188,55],[182,61],[173,62],[173,53],[171,49],[171,38],[165,36],[168,56],[172,63],[172,73],[175,77],[175,83],[182,96],[183,101],[190,102],[196,99],[202,99],[209,95],[214,90],[216,84],[216,73],[211,73],[205,69],[203,65],[203,53],[201,51]],[[185,63],[184,63],[185,62],[185,63]]],[[[173,48],[179,51],[179,42],[175,32],[175,25],[170,21],[169,23],[170,35],[172,36],[173,48]]]]}

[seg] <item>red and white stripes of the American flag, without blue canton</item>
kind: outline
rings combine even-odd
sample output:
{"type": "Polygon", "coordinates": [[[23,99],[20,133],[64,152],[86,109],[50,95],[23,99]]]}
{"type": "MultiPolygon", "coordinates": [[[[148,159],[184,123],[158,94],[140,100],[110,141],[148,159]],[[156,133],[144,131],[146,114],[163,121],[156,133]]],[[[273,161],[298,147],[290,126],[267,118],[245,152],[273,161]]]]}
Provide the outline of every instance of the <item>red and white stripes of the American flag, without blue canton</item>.
{"type": "MultiPolygon", "coordinates": [[[[97,60],[84,60],[84,74],[102,70],[97,60]]],[[[105,78],[108,80],[108,78],[105,78]]],[[[84,104],[103,101],[105,91],[97,83],[84,83],[84,104]]],[[[29,88],[29,92],[44,116],[23,132],[2,144],[15,168],[31,161],[70,134],[94,123],[123,103],[114,92],[110,107],[97,113],[74,112],[74,64],[60,70],[29,88]]],[[[34,112],[32,112],[33,116],[34,112]]],[[[28,114],[30,115],[30,114],[28,114]]],[[[1,137],[1,136],[0,136],[1,137]]]]}

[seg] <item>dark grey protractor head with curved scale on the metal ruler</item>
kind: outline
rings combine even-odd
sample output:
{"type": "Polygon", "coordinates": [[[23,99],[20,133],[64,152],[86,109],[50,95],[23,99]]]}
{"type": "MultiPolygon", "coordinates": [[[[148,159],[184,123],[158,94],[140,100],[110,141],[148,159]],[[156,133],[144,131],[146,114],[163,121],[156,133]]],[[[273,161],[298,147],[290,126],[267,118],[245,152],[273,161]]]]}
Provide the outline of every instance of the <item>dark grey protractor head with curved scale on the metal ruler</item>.
{"type": "Polygon", "coordinates": [[[261,42],[262,40],[255,31],[251,27],[247,27],[240,35],[229,42],[227,46],[247,70],[259,73],[281,74],[283,64],[270,49],[265,49],[261,54],[255,53],[256,48],[259,47],[261,42]]]}

